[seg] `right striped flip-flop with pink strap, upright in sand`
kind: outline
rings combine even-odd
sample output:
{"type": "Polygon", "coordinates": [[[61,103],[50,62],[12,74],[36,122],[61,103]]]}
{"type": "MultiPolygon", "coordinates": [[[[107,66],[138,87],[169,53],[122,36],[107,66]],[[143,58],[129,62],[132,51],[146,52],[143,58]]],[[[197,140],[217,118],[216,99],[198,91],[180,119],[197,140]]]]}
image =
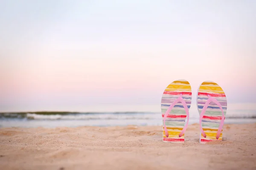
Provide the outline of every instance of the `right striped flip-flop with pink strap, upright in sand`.
{"type": "Polygon", "coordinates": [[[200,116],[200,143],[222,140],[227,112],[227,98],[215,82],[205,81],[198,88],[197,107],[200,116]]]}

